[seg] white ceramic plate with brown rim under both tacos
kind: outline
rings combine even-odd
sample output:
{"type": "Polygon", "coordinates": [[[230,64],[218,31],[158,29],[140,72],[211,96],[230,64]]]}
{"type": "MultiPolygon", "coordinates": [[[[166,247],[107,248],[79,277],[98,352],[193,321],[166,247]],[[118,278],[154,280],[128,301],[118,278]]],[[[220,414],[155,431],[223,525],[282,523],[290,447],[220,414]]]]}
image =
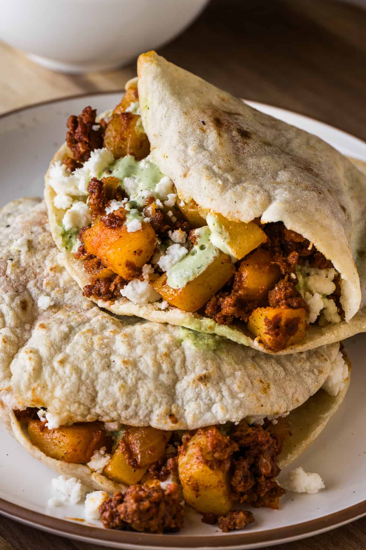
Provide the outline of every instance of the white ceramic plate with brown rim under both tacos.
{"type": "MultiPolygon", "coordinates": [[[[95,94],[43,103],[5,114],[0,118],[0,160],[2,184],[0,203],[42,195],[43,174],[50,158],[65,137],[66,119],[87,105],[98,111],[110,108],[121,94],[95,94]]],[[[298,114],[250,104],[291,124],[319,135],[345,155],[366,161],[366,144],[298,114]]],[[[99,522],[83,520],[83,505],[47,507],[55,496],[51,480],[55,474],[31,458],[0,429],[0,512],[41,529],[104,544],[113,548],[260,548],[289,542],[333,529],[366,515],[366,335],[346,341],[353,370],[351,388],[337,414],[317,441],[290,467],[303,466],[318,472],[326,489],[316,495],[287,493],[280,510],[255,510],[256,521],[244,531],[221,533],[202,524],[200,516],[188,513],[186,527],[176,535],[103,529],[99,522]],[[74,520],[72,519],[74,518],[74,520]],[[77,518],[77,520],[75,520],[77,518]]],[[[283,472],[284,475],[285,471],[283,472]]]]}

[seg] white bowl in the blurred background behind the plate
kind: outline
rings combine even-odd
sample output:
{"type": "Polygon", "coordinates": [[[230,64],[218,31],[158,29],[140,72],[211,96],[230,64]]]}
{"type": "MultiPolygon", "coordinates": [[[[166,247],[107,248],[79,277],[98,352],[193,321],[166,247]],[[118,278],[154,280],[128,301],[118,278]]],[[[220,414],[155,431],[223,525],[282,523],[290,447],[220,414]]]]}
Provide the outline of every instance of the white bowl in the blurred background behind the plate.
{"type": "Polygon", "coordinates": [[[208,1],[0,0],[0,39],[49,69],[112,69],[172,40],[208,1]]]}

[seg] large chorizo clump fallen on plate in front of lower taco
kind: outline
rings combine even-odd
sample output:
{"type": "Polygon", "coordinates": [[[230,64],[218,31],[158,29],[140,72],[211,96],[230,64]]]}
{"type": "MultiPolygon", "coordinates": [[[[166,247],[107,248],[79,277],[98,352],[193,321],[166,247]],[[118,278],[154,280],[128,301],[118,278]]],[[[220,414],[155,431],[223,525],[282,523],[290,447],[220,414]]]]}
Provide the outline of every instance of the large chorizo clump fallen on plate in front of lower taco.
{"type": "Polygon", "coordinates": [[[139,532],[180,531],[184,506],[177,483],[160,486],[132,485],[126,493],[116,493],[99,507],[104,527],[139,532]]]}

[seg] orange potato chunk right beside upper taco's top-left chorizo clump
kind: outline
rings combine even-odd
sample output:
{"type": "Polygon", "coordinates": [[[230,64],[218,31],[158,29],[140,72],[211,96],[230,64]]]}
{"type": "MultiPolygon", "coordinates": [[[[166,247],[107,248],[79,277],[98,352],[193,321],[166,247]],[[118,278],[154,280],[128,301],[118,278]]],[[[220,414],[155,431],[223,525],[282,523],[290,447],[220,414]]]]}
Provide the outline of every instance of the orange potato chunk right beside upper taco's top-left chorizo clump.
{"type": "Polygon", "coordinates": [[[114,114],[106,125],[103,147],[114,158],[133,155],[137,161],[150,153],[148,136],[140,126],[140,116],[132,113],[114,114]]]}

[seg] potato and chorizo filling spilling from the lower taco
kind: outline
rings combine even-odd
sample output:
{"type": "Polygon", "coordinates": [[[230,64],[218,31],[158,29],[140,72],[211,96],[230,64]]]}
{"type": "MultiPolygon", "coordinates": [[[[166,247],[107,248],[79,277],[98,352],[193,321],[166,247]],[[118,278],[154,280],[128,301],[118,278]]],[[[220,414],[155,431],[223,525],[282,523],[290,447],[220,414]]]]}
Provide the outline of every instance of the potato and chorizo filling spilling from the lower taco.
{"type": "Polygon", "coordinates": [[[243,420],[238,425],[164,431],[117,422],[48,428],[43,409],[14,412],[31,443],[47,456],[86,464],[127,486],[100,505],[105,527],[179,531],[185,502],[202,514],[202,521],[218,524],[223,531],[243,529],[254,516],[233,509],[235,505],[277,510],[285,493],[275,480],[278,457],[290,437],[284,418],[262,425],[243,420]]]}

